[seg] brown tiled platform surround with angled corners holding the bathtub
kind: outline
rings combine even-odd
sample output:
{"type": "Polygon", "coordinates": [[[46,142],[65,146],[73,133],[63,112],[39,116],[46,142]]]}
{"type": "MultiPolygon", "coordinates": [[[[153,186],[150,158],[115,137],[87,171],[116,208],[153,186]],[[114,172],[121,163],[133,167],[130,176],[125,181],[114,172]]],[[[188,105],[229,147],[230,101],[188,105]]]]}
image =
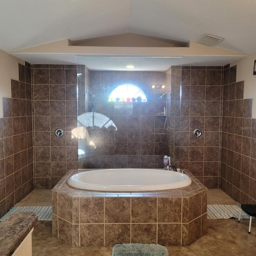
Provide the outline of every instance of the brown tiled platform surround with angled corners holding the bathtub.
{"type": "Polygon", "coordinates": [[[96,192],[68,186],[70,170],[52,190],[52,233],[72,246],[119,243],[186,246],[206,232],[207,188],[192,184],[155,192],[96,192]]]}

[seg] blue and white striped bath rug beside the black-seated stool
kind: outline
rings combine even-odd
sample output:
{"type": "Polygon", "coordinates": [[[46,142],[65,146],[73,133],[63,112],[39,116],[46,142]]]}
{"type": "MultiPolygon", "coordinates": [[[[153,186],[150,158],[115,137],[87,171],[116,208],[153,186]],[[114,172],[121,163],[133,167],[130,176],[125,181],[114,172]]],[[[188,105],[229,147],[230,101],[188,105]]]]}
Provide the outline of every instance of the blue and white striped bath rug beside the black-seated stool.
{"type": "MultiPolygon", "coordinates": [[[[229,219],[229,218],[238,219],[240,212],[241,212],[240,205],[209,204],[207,206],[208,219],[229,219]]],[[[242,211],[241,219],[250,219],[250,215],[242,211]]]]}

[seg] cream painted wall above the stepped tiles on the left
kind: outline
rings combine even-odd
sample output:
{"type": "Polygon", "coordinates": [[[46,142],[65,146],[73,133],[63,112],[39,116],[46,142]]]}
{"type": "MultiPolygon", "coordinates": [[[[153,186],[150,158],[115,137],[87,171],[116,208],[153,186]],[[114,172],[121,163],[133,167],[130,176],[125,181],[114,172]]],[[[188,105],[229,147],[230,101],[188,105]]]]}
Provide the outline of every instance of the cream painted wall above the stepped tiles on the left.
{"type": "Polygon", "coordinates": [[[18,63],[24,65],[20,60],[3,50],[0,50],[0,118],[3,117],[2,98],[11,98],[11,79],[18,80],[18,63]]]}

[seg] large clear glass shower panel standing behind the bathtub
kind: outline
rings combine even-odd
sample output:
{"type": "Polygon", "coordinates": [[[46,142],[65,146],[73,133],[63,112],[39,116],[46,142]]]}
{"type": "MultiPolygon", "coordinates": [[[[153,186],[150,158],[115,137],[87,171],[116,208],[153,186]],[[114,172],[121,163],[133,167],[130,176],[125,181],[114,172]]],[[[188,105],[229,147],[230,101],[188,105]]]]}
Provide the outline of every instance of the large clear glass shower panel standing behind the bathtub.
{"type": "Polygon", "coordinates": [[[128,58],[138,68],[127,71],[120,64],[127,58],[110,57],[106,63],[120,66],[90,69],[94,61],[105,60],[77,57],[79,168],[162,168],[165,154],[178,162],[181,58],[128,58]],[[160,70],[163,63],[166,68],[160,70]],[[138,86],[147,101],[108,101],[122,84],[138,86]],[[160,114],[164,108],[166,114],[160,114]]]}

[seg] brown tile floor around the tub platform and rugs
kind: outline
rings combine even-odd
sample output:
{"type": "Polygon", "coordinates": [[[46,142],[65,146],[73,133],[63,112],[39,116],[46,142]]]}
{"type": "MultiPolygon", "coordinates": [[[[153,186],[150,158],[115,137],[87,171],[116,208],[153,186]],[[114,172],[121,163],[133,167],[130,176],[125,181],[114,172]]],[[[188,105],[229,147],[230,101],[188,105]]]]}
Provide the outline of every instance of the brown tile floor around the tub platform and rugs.
{"type": "MultiPolygon", "coordinates": [[[[49,205],[51,190],[33,190],[22,205],[49,205]]],[[[208,190],[208,204],[238,204],[222,190],[208,190]]],[[[16,205],[17,206],[17,205],[16,205]]],[[[190,246],[166,246],[170,256],[256,256],[256,220],[207,220],[207,234],[190,246]]],[[[73,248],[52,236],[52,222],[38,221],[32,234],[33,256],[111,256],[112,247],[73,248]]]]}

